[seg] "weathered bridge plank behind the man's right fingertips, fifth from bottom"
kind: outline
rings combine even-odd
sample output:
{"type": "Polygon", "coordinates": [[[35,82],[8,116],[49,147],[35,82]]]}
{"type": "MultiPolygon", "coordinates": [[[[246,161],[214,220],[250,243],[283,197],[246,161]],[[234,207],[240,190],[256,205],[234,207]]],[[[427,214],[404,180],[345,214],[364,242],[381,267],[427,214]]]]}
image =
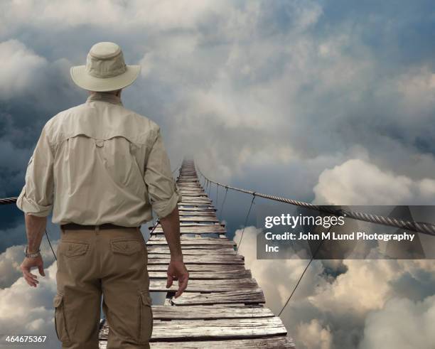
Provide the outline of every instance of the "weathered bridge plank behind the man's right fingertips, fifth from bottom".
{"type": "MultiPolygon", "coordinates": [[[[189,280],[185,292],[225,292],[242,289],[257,289],[255,279],[216,279],[216,280],[189,280]]],[[[166,288],[166,280],[151,279],[149,281],[150,292],[176,291],[178,282],[174,282],[170,288],[166,288]]]]}

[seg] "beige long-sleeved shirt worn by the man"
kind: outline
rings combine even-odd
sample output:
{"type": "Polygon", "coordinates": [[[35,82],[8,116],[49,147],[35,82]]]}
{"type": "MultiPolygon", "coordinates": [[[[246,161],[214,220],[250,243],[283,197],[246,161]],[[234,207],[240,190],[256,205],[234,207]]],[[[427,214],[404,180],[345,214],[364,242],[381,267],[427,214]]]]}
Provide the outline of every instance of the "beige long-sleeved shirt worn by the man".
{"type": "Polygon", "coordinates": [[[53,210],[58,224],[134,227],[179,201],[159,126],[97,93],[45,124],[16,205],[41,217],[53,210]]]}

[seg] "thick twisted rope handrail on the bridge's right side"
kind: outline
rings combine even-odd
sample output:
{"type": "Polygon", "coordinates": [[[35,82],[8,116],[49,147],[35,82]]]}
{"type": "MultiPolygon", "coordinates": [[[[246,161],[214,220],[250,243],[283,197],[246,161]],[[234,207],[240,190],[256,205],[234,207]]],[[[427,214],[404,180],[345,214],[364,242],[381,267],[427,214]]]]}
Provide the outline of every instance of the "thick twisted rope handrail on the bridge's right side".
{"type": "Polygon", "coordinates": [[[404,229],[404,230],[412,230],[414,232],[421,232],[421,233],[426,234],[426,235],[435,236],[435,224],[433,224],[433,223],[411,222],[409,220],[390,218],[390,217],[385,217],[382,215],[373,215],[371,213],[363,213],[363,212],[343,210],[343,209],[334,209],[334,208],[330,208],[328,206],[313,205],[312,203],[304,203],[303,201],[299,201],[299,200],[282,198],[281,196],[257,193],[256,191],[253,191],[253,190],[246,190],[246,189],[228,186],[226,184],[212,181],[210,178],[206,177],[202,171],[200,171],[200,168],[198,168],[198,166],[197,166],[197,169],[198,169],[198,172],[200,173],[200,175],[203,176],[205,179],[207,179],[207,181],[209,181],[210,183],[215,183],[217,186],[222,186],[224,188],[236,190],[236,191],[239,191],[241,193],[247,193],[250,195],[259,196],[260,198],[279,201],[281,203],[289,203],[290,205],[296,205],[296,206],[301,206],[304,208],[310,208],[312,210],[318,210],[321,212],[330,213],[332,215],[343,215],[347,218],[352,218],[354,220],[363,220],[365,222],[371,222],[371,223],[380,224],[380,225],[387,225],[390,227],[398,227],[398,228],[404,229]]]}

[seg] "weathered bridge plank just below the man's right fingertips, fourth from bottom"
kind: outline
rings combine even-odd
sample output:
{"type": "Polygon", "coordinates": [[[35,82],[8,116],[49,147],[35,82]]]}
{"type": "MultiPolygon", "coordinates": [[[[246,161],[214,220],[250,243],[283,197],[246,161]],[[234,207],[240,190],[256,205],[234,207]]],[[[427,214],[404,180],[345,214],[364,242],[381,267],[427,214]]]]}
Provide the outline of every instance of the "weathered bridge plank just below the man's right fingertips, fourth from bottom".
{"type": "Polygon", "coordinates": [[[264,302],[262,289],[213,292],[210,294],[186,292],[185,294],[181,294],[178,298],[172,298],[172,303],[176,306],[230,303],[260,304],[264,302]]]}

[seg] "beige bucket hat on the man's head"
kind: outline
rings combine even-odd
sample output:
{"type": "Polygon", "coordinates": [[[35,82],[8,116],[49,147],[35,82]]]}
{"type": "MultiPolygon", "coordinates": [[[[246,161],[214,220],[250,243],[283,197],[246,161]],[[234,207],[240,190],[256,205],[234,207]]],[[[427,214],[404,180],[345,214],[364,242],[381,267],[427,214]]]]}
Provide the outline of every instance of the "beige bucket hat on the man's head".
{"type": "Polygon", "coordinates": [[[70,70],[75,84],[88,91],[109,92],[131,85],[139,76],[140,65],[126,65],[116,43],[102,42],[92,46],[86,65],[70,70]]]}

